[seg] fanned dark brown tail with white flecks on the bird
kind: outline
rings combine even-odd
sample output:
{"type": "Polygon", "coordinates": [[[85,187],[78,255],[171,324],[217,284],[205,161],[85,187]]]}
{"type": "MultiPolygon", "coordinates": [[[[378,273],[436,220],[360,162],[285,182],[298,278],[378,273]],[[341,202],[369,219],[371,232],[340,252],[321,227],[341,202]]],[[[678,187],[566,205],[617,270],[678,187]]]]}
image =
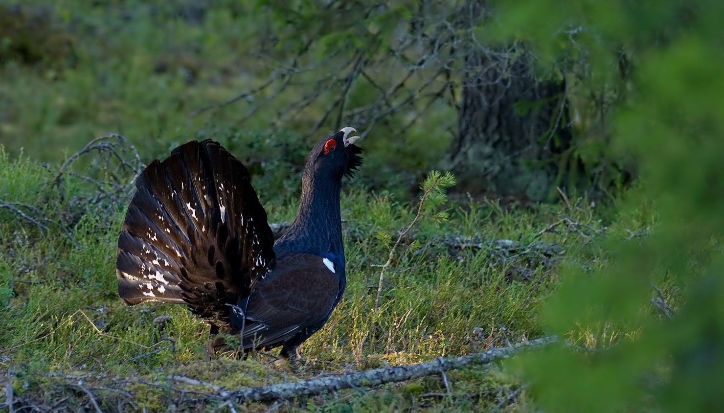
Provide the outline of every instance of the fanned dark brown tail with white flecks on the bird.
{"type": "Polygon", "coordinates": [[[136,187],[116,262],[126,304],[165,301],[225,313],[225,303],[248,293],[274,262],[274,239],[248,172],[218,143],[174,149],[151,162],[136,187]]]}

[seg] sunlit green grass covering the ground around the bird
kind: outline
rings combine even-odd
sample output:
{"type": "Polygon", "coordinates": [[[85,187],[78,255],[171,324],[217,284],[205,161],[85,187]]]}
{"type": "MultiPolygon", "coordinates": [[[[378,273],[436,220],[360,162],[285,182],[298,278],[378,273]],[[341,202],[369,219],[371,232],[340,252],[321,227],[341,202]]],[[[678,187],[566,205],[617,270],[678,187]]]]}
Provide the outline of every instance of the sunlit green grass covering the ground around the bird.
{"type": "MultiPolygon", "coordinates": [[[[70,178],[62,188],[51,185],[56,168],[1,154],[0,199],[37,207],[28,212],[30,217],[56,220],[68,199],[88,195],[88,187],[70,178]]],[[[274,179],[261,175],[253,183],[264,187],[267,180],[274,179]]],[[[277,198],[272,202],[264,193],[260,197],[270,222],[293,217],[294,201],[277,198]]],[[[90,388],[124,388],[139,409],[146,406],[149,412],[163,412],[172,401],[182,410],[196,406],[174,399],[174,391],[182,385],[164,380],[168,374],[235,388],[484,351],[545,335],[537,309],[555,289],[565,257],[576,256],[568,262],[584,267],[604,261],[605,254],[587,243],[591,235],[603,236],[597,235],[600,232],[620,239],[628,236],[627,230],[638,232],[652,224],[650,213],[644,211],[641,216],[610,222],[604,231],[606,211],[586,207],[584,202],[572,211],[565,206],[504,211],[494,203],[447,207],[450,220],[423,218],[403,238],[392,270],[385,275],[379,311],[375,311],[380,272],[375,265],[387,261],[397,234],[409,225],[417,209],[389,194],[370,193],[358,181],[346,186],[342,219],[348,287],[327,325],[301,346],[303,360],[293,371],[273,364],[274,357],[264,354],[254,354],[244,362],[231,358],[203,362],[207,328],[185,307],[124,306],[114,275],[122,208],[88,209],[70,228],[70,238],[50,222],[41,235],[33,222],[0,208],[0,243],[5,246],[0,253],[0,317],[4,320],[0,323],[0,368],[14,371],[18,396],[38,403],[52,404],[54,398],[66,396],[87,403],[68,378],[80,375],[90,388]],[[544,231],[561,217],[588,228],[566,230],[565,225],[555,225],[553,232],[544,231]],[[455,245],[459,243],[455,237],[469,237],[482,245],[464,248],[455,245]],[[512,241],[514,247],[484,242],[501,239],[512,241]],[[161,315],[170,316],[166,325],[154,323],[161,315]]],[[[602,346],[586,337],[610,333],[612,328],[581,328],[571,332],[570,338],[581,345],[602,346]]],[[[626,335],[621,328],[613,329],[617,335],[626,335]]],[[[497,367],[448,372],[447,379],[452,397],[437,396],[447,392],[441,377],[427,377],[368,392],[342,391],[338,398],[295,399],[283,404],[281,411],[487,411],[508,396],[513,402],[510,406],[502,403],[504,411],[534,410],[526,391],[519,391],[519,379],[497,367]]],[[[111,406],[117,404],[118,394],[94,393],[101,407],[115,408],[111,406]]],[[[269,406],[243,407],[265,411],[269,406]]],[[[214,402],[201,407],[212,409],[214,402]]]]}

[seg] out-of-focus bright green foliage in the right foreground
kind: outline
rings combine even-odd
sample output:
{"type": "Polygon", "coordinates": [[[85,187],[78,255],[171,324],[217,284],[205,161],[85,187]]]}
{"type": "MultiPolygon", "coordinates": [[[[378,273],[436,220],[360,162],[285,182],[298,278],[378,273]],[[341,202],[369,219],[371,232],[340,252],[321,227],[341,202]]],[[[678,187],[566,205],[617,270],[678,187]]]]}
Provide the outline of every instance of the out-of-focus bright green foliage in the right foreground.
{"type": "Polygon", "coordinates": [[[620,214],[651,202],[657,212],[643,238],[602,241],[601,267],[564,270],[542,308],[548,329],[618,337],[523,359],[536,399],[555,412],[724,411],[724,3],[515,1],[498,12],[491,36],[525,39],[549,62],[583,45],[599,84],[630,59],[613,147],[635,159],[640,182],[620,214]],[[668,320],[649,300],[678,313],[668,320]]]}

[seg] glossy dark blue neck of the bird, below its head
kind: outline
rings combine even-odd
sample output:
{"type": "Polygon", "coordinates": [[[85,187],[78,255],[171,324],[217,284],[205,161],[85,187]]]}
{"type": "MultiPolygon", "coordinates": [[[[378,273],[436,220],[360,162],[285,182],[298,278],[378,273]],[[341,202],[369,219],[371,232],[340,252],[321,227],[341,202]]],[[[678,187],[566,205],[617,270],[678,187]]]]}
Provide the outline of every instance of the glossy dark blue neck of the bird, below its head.
{"type": "MultiPolygon", "coordinates": [[[[319,178],[318,178],[319,179],[319,178]]],[[[302,179],[302,197],[292,226],[277,241],[274,249],[334,254],[335,261],[344,264],[342,220],[340,217],[341,181],[321,182],[313,175],[302,179]]]]}

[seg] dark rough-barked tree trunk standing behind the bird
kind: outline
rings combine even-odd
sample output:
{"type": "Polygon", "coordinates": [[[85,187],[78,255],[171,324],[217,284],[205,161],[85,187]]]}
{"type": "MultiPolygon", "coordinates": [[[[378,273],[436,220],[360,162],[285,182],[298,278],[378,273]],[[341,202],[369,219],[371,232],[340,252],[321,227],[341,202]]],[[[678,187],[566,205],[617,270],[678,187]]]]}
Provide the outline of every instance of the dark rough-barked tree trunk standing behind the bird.
{"type": "Polygon", "coordinates": [[[444,162],[463,191],[547,201],[571,146],[565,83],[536,80],[525,51],[466,56],[458,136],[444,162]]]}

